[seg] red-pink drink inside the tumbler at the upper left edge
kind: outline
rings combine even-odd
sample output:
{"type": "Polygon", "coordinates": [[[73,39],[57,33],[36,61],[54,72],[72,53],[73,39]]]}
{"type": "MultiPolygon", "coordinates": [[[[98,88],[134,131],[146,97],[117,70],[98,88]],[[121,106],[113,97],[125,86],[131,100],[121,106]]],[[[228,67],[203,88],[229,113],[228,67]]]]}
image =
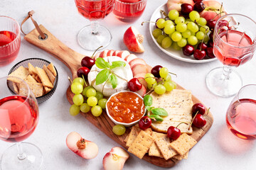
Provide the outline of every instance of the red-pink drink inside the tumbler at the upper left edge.
{"type": "Polygon", "coordinates": [[[0,31],[0,66],[9,64],[16,59],[21,40],[14,41],[15,38],[15,33],[7,30],[0,31]]]}

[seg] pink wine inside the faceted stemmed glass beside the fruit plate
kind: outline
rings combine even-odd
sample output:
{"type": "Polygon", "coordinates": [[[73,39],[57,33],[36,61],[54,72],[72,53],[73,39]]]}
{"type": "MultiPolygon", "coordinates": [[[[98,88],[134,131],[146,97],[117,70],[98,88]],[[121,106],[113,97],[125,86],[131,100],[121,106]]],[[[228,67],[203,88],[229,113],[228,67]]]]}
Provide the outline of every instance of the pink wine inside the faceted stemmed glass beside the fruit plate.
{"type": "Polygon", "coordinates": [[[248,35],[238,30],[223,31],[219,35],[224,42],[221,40],[216,42],[216,40],[213,52],[220,62],[225,65],[238,67],[252,58],[253,52],[250,49],[248,52],[248,48],[246,50],[239,48],[252,45],[252,40],[248,35]]]}

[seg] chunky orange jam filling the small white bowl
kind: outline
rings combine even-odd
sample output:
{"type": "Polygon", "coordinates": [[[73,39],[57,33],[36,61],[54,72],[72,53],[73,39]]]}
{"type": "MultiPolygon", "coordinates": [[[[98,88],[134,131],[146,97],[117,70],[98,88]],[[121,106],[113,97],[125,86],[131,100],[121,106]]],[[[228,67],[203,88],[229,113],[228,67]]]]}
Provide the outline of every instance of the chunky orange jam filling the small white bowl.
{"type": "Polygon", "coordinates": [[[142,118],[145,106],[138,94],[122,91],[110,98],[107,102],[107,110],[117,122],[132,123],[142,118]]]}

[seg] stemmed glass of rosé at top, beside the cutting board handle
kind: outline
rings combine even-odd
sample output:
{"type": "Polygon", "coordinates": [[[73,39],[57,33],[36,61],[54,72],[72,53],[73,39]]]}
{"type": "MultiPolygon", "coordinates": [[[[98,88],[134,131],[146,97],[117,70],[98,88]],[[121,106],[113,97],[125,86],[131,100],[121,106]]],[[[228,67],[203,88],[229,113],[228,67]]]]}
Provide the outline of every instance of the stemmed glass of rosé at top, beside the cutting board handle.
{"type": "Polygon", "coordinates": [[[107,47],[112,40],[110,30],[101,26],[99,20],[105,18],[113,8],[114,0],[75,0],[78,12],[91,21],[78,33],[78,43],[85,50],[107,47]]]}

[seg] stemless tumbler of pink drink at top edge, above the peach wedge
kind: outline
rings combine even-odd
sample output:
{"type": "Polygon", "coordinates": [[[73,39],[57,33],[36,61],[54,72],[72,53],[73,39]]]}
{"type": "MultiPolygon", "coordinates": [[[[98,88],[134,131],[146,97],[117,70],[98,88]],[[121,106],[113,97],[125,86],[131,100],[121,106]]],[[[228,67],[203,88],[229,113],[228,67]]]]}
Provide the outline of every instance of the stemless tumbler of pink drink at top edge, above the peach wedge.
{"type": "Polygon", "coordinates": [[[136,21],[146,7],[146,0],[115,0],[113,13],[119,21],[131,23],[136,21]]]}

